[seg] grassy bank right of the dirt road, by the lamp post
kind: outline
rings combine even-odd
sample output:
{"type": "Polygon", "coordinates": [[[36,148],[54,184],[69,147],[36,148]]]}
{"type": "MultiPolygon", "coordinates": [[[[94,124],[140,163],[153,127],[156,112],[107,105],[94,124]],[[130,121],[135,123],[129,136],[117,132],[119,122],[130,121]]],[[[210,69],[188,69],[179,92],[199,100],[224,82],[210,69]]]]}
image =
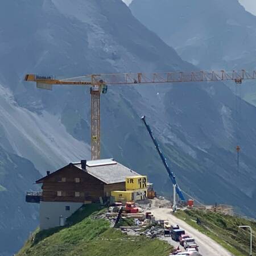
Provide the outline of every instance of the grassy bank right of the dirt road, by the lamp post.
{"type": "MultiPolygon", "coordinates": [[[[250,232],[242,230],[238,226],[249,225],[255,232],[255,221],[203,210],[180,210],[175,213],[175,216],[218,242],[233,255],[249,255],[250,232]],[[201,221],[200,225],[196,223],[197,218],[201,221]]],[[[253,245],[253,252],[256,253],[255,236],[253,245]]]]}

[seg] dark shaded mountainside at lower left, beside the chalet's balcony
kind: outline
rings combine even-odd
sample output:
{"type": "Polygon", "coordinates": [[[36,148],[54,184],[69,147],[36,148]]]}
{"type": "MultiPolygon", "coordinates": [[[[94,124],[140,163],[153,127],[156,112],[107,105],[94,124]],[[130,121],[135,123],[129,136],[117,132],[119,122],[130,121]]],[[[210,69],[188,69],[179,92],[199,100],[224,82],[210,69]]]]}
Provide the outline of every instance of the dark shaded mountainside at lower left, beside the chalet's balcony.
{"type": "Polygon", "coordinates": [[[40,177],[34,165],[0,147],[0,255],[19,250],[38,225],[38,205],[24,204],[25,191],[39,190],[32,185],[40,177]]]}

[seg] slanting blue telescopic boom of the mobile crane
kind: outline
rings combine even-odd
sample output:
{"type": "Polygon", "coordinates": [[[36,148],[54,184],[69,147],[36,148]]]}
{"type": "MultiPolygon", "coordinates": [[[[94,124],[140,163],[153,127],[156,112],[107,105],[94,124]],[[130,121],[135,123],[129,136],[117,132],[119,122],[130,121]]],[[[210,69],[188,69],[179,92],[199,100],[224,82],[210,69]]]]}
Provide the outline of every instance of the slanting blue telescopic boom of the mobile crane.
{"type": "Polygon", "coordinates": [[[142,117],[141,119],[142,119],[144,125],[146,126],[147,131],[148,131],[148,133],[149,133],[149,135],[150,135],[150,137],[151,137],[153,143],[155,144],[155,148],[156,148],[156,150],[158,151],[158,154],[159,154],[159,156],[160,156],[160,158],[161,158],[161,160],[162,160],[162,162],[163,162],[163,164],[164,164],[164,167],[166,168],[166,171],[168,172],[168,176],[170,177],[170,179],[171,179],[171,181],[172,181],[172,184],[174,184],[175,187],[176,187],[176,193],[177,193],[177,195],[179,196],[180,201],[185,201],[184,196],[183,196],[183,193],[181,192],[179,186],[177,185],[175,175],[174,175],[174,173],[171,171],[170,167],[168,166],[168,164],[167,164],[167,162],[166,162],[166,158],[164,157],[162,151],[160,150],[159,144],[158,144],[158,142],[156,141],[156,139],[155,139],[155,137],[154,137],[154,135],[153,135],[153,133],[152,133],[152,130],[151,130],[150,126],[149,126],[148,123],[146,122],[146,117],[143,115],[143,117],[142,117]]]}

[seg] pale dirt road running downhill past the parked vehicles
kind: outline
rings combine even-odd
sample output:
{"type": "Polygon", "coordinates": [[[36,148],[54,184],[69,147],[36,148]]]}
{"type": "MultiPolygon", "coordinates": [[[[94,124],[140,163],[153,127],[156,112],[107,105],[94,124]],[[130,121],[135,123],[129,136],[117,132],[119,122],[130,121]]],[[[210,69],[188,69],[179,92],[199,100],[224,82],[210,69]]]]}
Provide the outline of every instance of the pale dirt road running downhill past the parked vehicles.
{"type": "MultiPolygon", "coordinates": [[[[184,229],[189,236],[195,238],[197,245],[199,245],[199,253],[203,256],[230,256],[232,255],[224,249],[221,245],[218,245],[217,242],[213,241],[208,236],[205,236],[198,230],[189,226],[186,222],[180,220],[173,216],[170,212],[171,209],[168,208],[155,208],[151,209],[151,212],[154,214],[156,220],[168,220],[170,224],[178,224],[180,228],[184,229]]],[[[171,240],[171,238],[170,238],[171,240]]]]}

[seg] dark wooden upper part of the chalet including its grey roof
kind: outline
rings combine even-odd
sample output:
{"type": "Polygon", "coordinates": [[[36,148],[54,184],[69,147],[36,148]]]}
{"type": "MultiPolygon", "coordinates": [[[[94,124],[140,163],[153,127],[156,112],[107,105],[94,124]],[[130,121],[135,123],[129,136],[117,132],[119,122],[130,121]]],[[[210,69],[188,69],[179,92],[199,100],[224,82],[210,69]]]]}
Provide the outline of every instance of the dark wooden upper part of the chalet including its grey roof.
{"type": "Polygon", "coordinates": [[[125,191],[127,176],[137,176],[114,159],[81,160],[37,180],[42,183],[40,201],[95,203],[111,191],[125,191]]]}

